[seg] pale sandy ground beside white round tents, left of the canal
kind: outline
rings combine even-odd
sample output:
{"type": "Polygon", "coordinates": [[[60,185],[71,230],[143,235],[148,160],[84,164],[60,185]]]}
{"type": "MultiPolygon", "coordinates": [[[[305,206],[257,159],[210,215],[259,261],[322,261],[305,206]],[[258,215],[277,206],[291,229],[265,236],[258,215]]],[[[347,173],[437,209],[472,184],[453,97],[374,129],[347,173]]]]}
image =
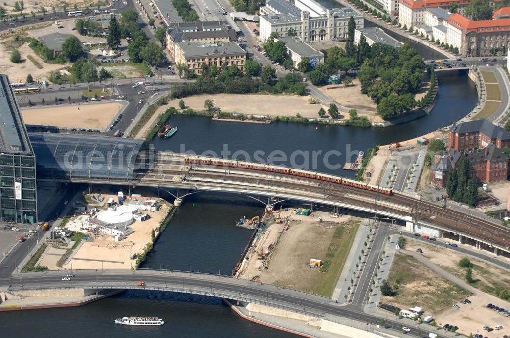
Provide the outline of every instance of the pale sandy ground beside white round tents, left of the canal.
{"type": "Polygon", "coordinates": [[[134,232],[120,242],[115,242],[110,235],[100,235],[94,241],[83,243],[75,253],[69,264],[64,268],[70,269],[131,269],[135,260],[130,259],[131,253],[141,252],[150,242],[152,229],[157,229],[169,211],[169,206],[163,204],[158,212],[144,211],[151,218],[144,222],[135,221],[132,224],[134,232]]]}

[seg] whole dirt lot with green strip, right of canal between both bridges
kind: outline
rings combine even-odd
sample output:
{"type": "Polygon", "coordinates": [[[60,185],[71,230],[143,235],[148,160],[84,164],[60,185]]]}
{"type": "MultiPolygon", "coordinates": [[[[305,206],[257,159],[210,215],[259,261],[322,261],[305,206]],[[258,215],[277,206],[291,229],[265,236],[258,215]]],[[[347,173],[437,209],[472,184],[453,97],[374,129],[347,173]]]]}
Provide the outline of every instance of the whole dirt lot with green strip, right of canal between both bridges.
{"type": "Polygon", "coordinates": [[[350,216],[331,218],[326,212],[314,212],[314,216],[294,214],[294,209],[283,212],[282,218],[288,217],[289,230],[281,232],[281,224],[268,223],[266,232],[268,240],[263,240],[262,251],[273,244],[281,233],[279,242],[264,262],[257,260],[257,253],[250,256],[249,264],[242,277],[250,279],[259,275],[263,283],[283,285],[297,290],[313,290],[317,294],[330,296],[336,285],[345,259],[351,247],[352,239],[358,228],[357,224],[342,224],[350,220],[350,216]],[[331,223],[317,222],[321,217],[331,223]],[[333,223],[335,222],[335,223],[333,223]],[[272,230],[275,228],[276,231],[272,230]],[[276,235],[275,235],[276,234],[276,235]],[[274,241],[273,241],[274,239],[274,241]],[[324,262],[322,268],[309,268],[311,258],[324,262]],[[258,267],[261,267],[261,271],[258,267]]]}

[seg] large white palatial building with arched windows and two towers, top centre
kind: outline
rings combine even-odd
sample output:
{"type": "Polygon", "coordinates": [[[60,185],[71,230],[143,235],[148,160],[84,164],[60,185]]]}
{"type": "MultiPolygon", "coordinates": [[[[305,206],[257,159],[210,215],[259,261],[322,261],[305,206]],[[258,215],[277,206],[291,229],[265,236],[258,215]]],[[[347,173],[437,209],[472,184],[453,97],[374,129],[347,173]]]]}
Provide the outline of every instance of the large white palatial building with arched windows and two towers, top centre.
{"type": "Polygon", "coordinates": [[[261,7],[261,13],[270,13],[260,17],[261,40],[266,41],[273,32],[286,37],[290,29],[296,31],[297,36],[303,41],[346,38],[351,16],[356,22],[357,29],[364,27],[363,14],[350,7],[326,9],[312,0],[300,0],[295,2],[295,5],[300,8],[284,0],[271,0],[266,6],[261,7]]]}

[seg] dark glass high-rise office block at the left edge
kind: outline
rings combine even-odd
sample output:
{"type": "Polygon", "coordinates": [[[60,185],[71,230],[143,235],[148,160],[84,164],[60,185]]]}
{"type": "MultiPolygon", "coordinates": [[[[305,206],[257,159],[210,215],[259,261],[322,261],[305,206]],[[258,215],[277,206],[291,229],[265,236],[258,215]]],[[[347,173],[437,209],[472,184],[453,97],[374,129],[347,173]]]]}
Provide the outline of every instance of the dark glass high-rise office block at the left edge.
{"type": "Polygon", "coordinates": [[[34,151],[7,75],[0,75],[0,220],[37,222],[34,151]]]}

